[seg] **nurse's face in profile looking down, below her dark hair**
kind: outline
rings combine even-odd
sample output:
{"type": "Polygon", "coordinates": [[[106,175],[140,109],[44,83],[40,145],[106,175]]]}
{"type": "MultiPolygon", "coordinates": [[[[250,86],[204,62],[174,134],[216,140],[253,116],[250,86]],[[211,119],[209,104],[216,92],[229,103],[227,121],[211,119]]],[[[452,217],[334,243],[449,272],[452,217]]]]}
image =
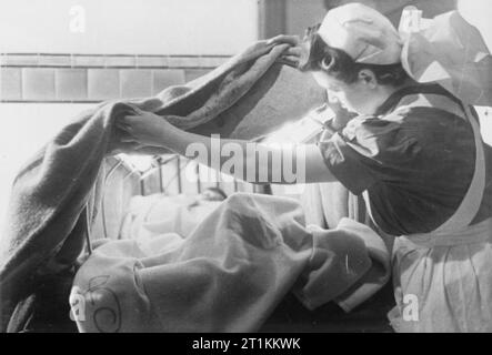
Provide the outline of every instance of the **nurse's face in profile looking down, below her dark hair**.
{"type": "Polygon", "coordinates": [[[353,83],[345,83],[323,71],[312,73],[318,84],[328,92],[330,102],[340,102],[347,110],[359,114],[374,114],[381,102],[378,83],[371,71],[361,71],[353,83]]]}

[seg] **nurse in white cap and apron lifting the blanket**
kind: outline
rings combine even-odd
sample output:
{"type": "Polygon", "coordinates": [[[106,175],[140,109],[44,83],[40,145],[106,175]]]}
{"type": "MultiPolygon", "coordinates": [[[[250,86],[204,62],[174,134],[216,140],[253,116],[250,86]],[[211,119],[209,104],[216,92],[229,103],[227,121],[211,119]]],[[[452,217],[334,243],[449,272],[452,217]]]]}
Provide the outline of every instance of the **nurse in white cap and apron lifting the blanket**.
{"type": "MultiPolygon", "coordinates": [[[[401,64],[398,31],[365,6],[329,11],[303,43],[290,37],[275,41],[295,44],[290,54],[300,69],[358,113],[331,138],[304,146],[305,180],[340,181],[363,195],[373,222],[395,236],[394,328],[492,332],[492,151],[473,109],[439,84],[413,81],[401,64]]],[[[151,113],[129,115],[120,126],[130,141],[179,154],[191,143],[209,151],[214,144],[151,113]]],[[[247,152],[248,142],[220,142],[228,143],[247,152]]],[[[209,159],[200,163],[211,165],[209,159]]],[[[260,166],[255,154],[244,153],[244,169],[233,174],[245,179],[255,166],[271,178],[279,169],[273,165],[260,166]]]]}

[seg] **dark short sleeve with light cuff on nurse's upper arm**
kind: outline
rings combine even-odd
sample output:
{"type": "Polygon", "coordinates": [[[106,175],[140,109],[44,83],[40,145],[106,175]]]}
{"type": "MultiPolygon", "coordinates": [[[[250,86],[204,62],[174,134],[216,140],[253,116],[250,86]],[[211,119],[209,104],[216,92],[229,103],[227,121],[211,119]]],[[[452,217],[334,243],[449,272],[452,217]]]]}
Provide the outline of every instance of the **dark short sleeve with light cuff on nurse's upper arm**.
{"type": "Polygon", "coordinates": [[[376,182],[396,182],[402,164],[419,151],[412,129],[398,116],[354,119],[318,145],[331,173],[355,195],[376,182]]]}

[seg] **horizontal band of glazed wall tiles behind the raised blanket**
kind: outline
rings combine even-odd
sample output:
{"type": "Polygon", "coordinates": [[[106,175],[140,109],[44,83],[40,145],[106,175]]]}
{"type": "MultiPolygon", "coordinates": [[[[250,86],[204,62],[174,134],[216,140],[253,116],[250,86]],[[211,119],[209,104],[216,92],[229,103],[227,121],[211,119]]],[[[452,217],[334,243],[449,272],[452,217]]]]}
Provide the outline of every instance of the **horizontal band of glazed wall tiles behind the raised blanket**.
{"type": "Polygon", "coordinates": [[[222,55],[2,54],[1,102],[143,98],[222,64],[222,55]]]}

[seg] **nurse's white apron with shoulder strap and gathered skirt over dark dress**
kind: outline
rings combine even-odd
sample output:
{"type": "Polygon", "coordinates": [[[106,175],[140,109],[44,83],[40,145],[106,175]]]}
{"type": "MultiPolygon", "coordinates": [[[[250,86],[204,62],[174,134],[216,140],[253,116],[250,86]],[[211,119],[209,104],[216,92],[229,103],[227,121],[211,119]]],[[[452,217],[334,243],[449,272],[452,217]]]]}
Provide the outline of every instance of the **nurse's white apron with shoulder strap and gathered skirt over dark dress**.
{"type": "MultiPolygon", "coordinates": [[[[492,217],[470,225],[485,189],[480,126],[470,108],[445,97],[411,95],[409,105],[441,106],[471,123],[476,160],[472,183],[455,213],[431,233],[403,235],[393,246],[396,332],[492,332],[492,217]]],[[[368,194],[364,194],[370,210],[368,194]]],[[[370,212],[370,211],[369,211],[370,212]]]]}

